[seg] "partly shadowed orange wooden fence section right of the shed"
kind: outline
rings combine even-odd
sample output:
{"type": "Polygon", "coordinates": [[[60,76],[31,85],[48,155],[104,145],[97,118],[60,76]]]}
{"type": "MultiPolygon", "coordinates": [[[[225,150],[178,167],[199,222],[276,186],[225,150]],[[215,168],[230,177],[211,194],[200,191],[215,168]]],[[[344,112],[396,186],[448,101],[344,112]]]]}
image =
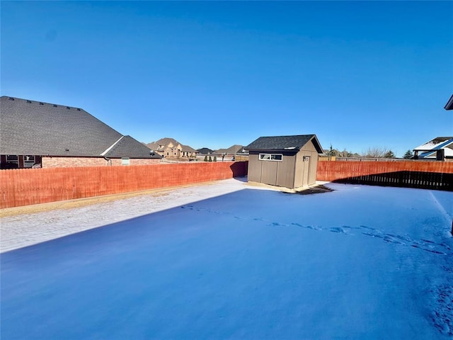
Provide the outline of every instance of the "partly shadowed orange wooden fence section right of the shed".
{"type": "Polygon", "coordinates": [[[453,191],[453,162],[318,162],[316,179],[453,191]]]}

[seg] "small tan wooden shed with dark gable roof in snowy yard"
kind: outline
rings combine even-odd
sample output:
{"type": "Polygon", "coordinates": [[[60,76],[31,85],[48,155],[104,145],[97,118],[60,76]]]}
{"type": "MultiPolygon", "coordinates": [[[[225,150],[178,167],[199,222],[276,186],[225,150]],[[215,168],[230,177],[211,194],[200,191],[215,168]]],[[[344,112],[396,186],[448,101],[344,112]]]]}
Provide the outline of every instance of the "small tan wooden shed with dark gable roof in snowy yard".
{"type": "Polygon", "coordinates": [[[316,182],[318,155],[323,148],[316,135],[259,137],[248,150],[248,181],[299,188],[316,182]]]}

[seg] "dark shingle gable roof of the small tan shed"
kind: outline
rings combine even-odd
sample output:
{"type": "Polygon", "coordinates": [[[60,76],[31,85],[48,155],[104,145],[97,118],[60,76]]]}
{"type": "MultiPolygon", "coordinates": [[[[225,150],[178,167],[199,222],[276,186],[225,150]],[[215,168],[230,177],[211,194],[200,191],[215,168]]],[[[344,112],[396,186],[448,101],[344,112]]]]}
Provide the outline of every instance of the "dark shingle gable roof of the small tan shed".
{"type": "Polygon", "coordinates": [[[244,147],[246,150],[299,150],[313,140],[316,150],[321,154],[323,149],[316,135],[259,137],[258,140],[244,147]]]}

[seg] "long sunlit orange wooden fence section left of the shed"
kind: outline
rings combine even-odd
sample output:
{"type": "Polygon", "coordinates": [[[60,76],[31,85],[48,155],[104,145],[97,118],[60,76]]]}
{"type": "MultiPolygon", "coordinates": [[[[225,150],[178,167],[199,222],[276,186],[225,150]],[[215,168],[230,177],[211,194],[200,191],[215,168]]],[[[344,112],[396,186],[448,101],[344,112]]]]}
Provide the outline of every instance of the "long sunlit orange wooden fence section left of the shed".
{"type": "Polygon", "coordinates": [[[0,171],[0,208],[246,176],[248,162],[202,162],[0,171]]]}

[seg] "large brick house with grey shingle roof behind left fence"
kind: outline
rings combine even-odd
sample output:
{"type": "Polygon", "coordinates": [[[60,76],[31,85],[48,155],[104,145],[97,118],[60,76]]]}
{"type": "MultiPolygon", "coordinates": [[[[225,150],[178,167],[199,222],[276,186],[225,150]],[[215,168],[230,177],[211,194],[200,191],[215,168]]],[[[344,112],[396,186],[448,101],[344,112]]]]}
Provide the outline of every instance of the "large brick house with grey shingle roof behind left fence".
{"type": "Polygon", "coordinates": [[[1,97],[1,169],[154,164],[159,154],[81,108],[1,97]]]}

